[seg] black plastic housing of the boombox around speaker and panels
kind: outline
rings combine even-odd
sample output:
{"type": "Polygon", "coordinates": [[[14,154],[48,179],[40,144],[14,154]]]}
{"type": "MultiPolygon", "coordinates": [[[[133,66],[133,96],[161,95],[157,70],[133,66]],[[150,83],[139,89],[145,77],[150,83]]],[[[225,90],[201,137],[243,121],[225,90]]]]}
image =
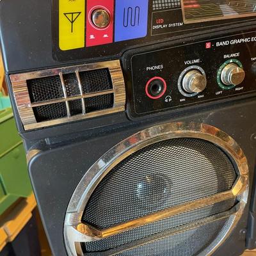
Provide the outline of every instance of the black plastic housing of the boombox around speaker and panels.
{"type": "MultiPolygon", "coordinates": [[[[197,122],[213,125],[227,132],[241,146],[250,167],[249,202],[251,205],[246,206],[234,232],[214,255],[239,256],[246,248],[255,248],[256,207],[255,183],[253,183],[256,157],[255,93],[209,101],[200,106],[192,104],[138,118],[132,118],[128,111],[132,104],[130,100],[131,57],[134,54],[156,51],[172,45],[184,45],[186,42],[243,33],[248,30],[256,31],[255,21],[246,22],[246,19],[241,19],[243,24],[239,24],[237,20],[236,24],[204,28],[203,31],[195,29],[180,35],[162,35],[155,42],[147,44],[141,42],[133,47],[124,44],[122,51],[118,54],[109,54],[105,57],[94,51],[93,58],[56,61],[56,56],[52,52],[51,16],[51,0],[0,1],[0,39],[6,81],[17,128],[24,139],[24,146],[27,152],[32,149],[40,150],[40,153],[32,157],[28,163],[29,175],[54,255],[66,255],[63,241],[65,211],[74,189],[88,168],[106,151],[128,136],[147,127],[166,122],[197,122]],[[121,60],[125,77],[128,99],[126,111],[35,131],[24,131],[15,105],[10,74],[116,59],[121,60]]],[[[218,25],[218,22],[216,23],[218,25]]],[[[108,45],[108,47],[115,47],[115,45],[108,45]]]]}

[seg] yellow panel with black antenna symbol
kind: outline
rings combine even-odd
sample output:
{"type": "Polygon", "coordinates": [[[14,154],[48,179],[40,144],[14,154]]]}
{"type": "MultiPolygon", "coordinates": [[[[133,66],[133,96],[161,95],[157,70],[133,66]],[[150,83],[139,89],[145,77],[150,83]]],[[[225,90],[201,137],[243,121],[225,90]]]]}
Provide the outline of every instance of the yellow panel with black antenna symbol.
{"type": "Polygon", "coordinates": [[[59,3],[60,49],[84,47],[85,0],[60,0],[59,3]]]}

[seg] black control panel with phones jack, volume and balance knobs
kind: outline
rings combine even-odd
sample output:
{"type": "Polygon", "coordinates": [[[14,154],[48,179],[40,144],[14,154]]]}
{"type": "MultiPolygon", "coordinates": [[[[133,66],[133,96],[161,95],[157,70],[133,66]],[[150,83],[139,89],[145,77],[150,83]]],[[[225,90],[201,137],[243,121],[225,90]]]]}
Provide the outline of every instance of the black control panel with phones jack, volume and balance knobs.
{"type": "Polygon", "coordinates": [[[256,33],[141,52],[131,71],[134,117],[256,92],[256,33]]]}

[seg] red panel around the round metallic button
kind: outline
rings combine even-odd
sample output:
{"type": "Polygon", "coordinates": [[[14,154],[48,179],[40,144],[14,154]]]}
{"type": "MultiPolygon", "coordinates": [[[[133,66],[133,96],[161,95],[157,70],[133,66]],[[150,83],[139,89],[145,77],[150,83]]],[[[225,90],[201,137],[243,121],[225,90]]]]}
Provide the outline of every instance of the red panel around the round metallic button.
{"type": "Polygon", "coordinates": [[[88,0],[86,18],[86,47],[113,42],[113,13],[114,0],[88,0]],[[108,28],[95,28],[92,24],[91,15],[95,9],[103,8],[111,15],[111,22],[108,28]]]}

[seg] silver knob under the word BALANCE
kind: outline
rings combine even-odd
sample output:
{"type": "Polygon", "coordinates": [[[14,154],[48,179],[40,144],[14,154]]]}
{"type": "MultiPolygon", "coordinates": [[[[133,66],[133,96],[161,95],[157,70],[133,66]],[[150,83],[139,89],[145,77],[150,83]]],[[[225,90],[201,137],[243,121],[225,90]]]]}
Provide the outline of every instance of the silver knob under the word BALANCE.
{"type": "Polygon", "coordinates": [[[238,85],[244,81],[245,72],[243,68],[234,63],[228,64],[221,72],[221,81],[226,85],[238,85]]]}

